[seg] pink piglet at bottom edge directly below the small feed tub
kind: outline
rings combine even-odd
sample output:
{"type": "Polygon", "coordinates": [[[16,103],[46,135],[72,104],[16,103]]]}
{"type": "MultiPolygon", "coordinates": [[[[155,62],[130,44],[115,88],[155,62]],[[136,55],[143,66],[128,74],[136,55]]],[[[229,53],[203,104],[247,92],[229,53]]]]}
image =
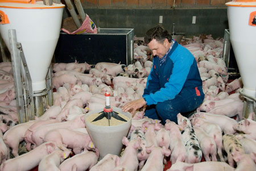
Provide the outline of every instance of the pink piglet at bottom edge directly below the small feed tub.
{"type": "Polygon", "coordinates": [[[108,154],[103,159],[97,162],[90,171],[112,171],[119,165],[120,159],[117,155],[108,154]]]}

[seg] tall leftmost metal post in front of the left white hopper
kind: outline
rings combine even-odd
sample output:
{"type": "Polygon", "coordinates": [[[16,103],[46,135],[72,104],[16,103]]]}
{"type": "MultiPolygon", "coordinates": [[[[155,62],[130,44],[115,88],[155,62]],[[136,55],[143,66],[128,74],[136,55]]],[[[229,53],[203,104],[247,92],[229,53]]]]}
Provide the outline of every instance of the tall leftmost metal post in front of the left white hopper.
{"type": "Polygon", "coordinates": [[[10,53],[11,53],[11,61],[13,64],[13,75],[14,75],[14,85],[15,85],[15,95],[16,95],[16,106],[19,116],[19,123],[26,122],[26,114],[24,109],[24,101],[23,101],[23,87],[22,78],[20,73],[20,59],[19,59],[19,51],[17,47],[17,38],[15,30],[8,30],[9,35],[9,44],[10,44],[10,53]]]}

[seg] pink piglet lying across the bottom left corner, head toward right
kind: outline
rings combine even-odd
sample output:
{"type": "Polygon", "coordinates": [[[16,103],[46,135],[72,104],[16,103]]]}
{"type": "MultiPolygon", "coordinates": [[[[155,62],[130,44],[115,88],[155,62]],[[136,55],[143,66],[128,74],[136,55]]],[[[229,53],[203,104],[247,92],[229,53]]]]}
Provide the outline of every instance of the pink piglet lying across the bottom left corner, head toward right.
{"type": "Polygon", "coordinates": [[[44,156],[52,153],[56,149],[59,149],[54,142],[47,142],[41,144],[30,152],[24,153],[21,156],[13,159],[6,160],[1,164],[1,170],[31,170],[39,164],[44,156]]]}

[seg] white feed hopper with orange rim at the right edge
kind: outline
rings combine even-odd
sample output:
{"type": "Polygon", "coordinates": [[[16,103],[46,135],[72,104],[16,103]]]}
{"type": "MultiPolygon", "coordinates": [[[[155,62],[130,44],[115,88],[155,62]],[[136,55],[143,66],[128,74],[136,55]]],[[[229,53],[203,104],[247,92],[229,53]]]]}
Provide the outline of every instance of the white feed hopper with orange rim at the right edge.
{"type": "Polygon", "coordinates": [[[256,2],[233,0],[228,6],[230,41],[243,81],[240,94],[245,97],[243,116],[255,112],[256,101],[256,2]]]}

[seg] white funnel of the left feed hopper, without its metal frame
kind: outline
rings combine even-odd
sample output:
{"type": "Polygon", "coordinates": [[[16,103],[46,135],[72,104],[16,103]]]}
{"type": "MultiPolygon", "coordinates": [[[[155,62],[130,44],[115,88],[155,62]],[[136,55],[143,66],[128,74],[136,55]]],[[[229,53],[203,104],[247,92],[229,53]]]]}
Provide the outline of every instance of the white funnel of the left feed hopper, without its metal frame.
{"type": "Polygon", "coordinates": [[[46,89],[46,76],[59,39],[64,6],[56,3],[46,6],[43,1],[0,0],[1,36],[10,51],[8,31],[16,30],[34,92],[46,89]]]}

